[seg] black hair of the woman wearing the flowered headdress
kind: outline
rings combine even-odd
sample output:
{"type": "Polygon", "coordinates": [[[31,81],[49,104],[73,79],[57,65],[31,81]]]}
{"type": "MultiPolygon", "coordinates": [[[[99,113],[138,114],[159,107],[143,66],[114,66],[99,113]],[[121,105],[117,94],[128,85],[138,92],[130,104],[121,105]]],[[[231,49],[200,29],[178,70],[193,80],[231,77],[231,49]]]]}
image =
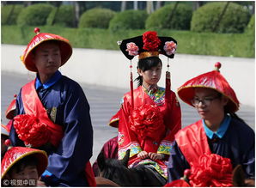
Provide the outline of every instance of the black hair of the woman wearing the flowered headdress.
{"type": "MultiPolygon", "coordinates": [[[[158,57],[142,58],[137,62],[137,69],[143,70],[144,72],[150,70],[152,67],[156,67],[159,63],[162,65],[162,60],[158,57]]],[[[143,76],[137,76],[135,81],[137,81],[137,87],[143,85],[143,76]]]]}

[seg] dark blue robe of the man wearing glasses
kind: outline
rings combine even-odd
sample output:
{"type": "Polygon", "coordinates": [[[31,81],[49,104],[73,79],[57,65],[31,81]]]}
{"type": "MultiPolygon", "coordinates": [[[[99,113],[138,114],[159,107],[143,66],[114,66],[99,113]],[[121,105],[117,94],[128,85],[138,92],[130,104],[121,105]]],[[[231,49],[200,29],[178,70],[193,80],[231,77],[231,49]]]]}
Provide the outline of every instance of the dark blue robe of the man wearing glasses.
{"type": "MultiPolygon", "coordinates": [[[[241,164],[246,177],[255,178],[255,134],[247,124],[232,118],[224,136],[208,137],[208,143],[212,154],[229,158],[233,167],[241,164]]],[[[183,177],[188,168],[190,165],[175,142],[168,161],[168,182],[183,177]]]]}

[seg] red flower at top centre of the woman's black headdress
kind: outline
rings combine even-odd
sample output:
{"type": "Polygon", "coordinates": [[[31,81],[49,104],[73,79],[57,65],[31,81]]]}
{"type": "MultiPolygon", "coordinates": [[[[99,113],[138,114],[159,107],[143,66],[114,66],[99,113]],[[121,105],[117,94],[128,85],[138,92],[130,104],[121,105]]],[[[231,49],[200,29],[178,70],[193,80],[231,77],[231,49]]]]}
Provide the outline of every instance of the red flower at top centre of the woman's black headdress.
{"type": "Polygon", "coordinates": [[[157,37],[157,33],[154,31],[148,31],[143,33],[143,49],[149,52],[157,52],[158,46],[161,44],[161,40],[157,37]]]}

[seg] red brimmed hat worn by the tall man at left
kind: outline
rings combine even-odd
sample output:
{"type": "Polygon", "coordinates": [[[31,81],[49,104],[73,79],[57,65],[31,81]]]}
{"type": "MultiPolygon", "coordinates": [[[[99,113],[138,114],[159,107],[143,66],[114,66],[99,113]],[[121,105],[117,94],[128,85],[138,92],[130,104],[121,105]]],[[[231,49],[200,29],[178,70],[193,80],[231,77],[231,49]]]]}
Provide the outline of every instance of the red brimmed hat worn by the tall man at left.
{"type": "Polygon", "coordinates": [[[40,28],[38,28],[38,27],[34,28],[34,32],[36,33],[36,35],[29,42],[26,50],[24,51],[23,55],[21,56],[21,61],[23,64],[25,64],[27,70],[37,72],[34,62],[32,61],[31,52],[34,50],[34,48],[36,46],[40,45],[43,42],[49,41],[49,40],[59,41],[59,44],[60,44],[59,48],[60,48],[60,53],[61,53],[61,66],[64,65],[69,60],[69,58],[72,54],[72,47],[71,47],[68,39],[64,39],[63,37],[61,37],[57,34],[40,33],[40,28]]]}

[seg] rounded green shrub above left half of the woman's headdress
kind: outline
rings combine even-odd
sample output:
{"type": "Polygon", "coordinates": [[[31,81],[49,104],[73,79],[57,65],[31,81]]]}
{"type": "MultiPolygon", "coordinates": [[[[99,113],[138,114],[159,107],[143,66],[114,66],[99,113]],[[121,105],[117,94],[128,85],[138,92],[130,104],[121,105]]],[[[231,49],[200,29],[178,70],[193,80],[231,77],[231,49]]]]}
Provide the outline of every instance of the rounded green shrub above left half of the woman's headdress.
{"type": "Polygon", "coordinates": [[[145,27],[147,17],[148,14],[144,10],[125,10],[113,17],[109,23],[109,29],[111,31],[117,31],[119,29],[142,29],[145,27]]]}

